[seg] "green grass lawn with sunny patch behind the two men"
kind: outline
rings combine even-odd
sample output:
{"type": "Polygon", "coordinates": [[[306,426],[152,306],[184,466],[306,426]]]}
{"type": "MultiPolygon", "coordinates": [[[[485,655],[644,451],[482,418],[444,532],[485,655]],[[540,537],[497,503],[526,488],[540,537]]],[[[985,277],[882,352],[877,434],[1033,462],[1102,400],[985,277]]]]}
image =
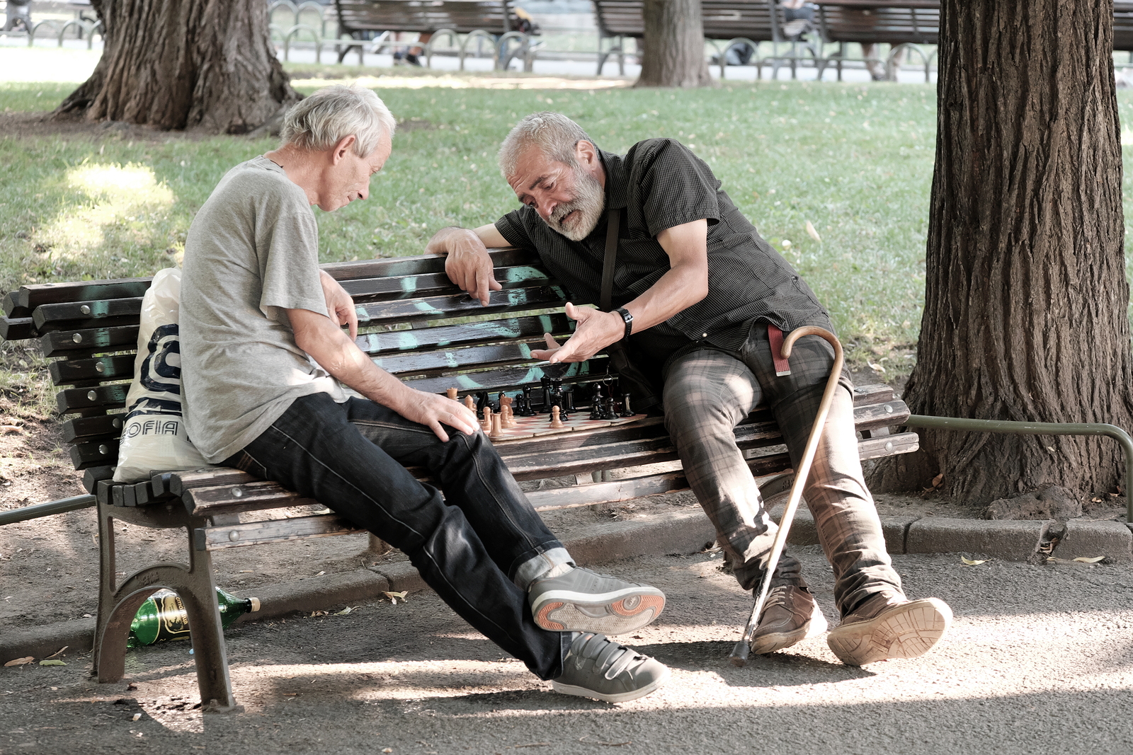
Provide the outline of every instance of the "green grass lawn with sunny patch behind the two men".
{"type": "MultiPolygon", "coordinates": [[[[292,67],[307,92],[304,79],[327,70],[292,67]]],[[[604,149],[624,152],[654,136],[692,146],[810,282],[852,359],[885,367],[885,377],[911,368],[906,354],[925,286],[931,85],[764,81],[590,92],[376,84],[398,119],[411,122],[398,134],[368,201],[316,212],[323,261],[421,254],[443,225],[475,226],[516,207],[495,151],[518,118],[553,109],[604,149]],[[808,222],[821,241],[807,233],[808,222]]],[[[50,110],[71,88],[0,84],[0,111],[50,110]]],[[[1133,96],[1123,91],[1119,97],[1124,115],[1133,96]]],[[[93,140],[3,135],[0,290],[150,275],[174,264],[194,213],[224,171],[272,146],[160,134],[131,141],[112,130],[93,140]]]]}

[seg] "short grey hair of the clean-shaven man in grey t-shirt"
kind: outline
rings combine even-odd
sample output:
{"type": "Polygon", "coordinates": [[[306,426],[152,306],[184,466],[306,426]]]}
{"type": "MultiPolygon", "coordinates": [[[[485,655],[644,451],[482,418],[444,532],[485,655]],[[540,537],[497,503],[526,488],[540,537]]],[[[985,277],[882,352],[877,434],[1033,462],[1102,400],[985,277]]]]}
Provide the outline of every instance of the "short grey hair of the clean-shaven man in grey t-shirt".
{"type": "Polygon", "coordinates": [[[283,144],[321,152],[352,135],[353,153],[365,157],[377,148],[383,134],[392,137],[397,127],[393,113],[373,89],[335,84],[289,110],[280,137],[283,144]]]}

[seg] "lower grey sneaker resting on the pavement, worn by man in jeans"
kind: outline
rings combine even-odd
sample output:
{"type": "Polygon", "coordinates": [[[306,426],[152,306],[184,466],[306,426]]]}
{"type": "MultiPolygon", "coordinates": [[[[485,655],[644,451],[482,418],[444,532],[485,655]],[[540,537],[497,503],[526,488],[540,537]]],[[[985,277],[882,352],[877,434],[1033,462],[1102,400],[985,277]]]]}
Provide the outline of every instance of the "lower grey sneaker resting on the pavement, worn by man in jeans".
{"type": "Polygon", "coordinates": [[[624,703],[645,697],[668,679],[668,667],[648,655],[585,632],[571,643],[563,672],[551,680],[555,692],[624,703]]]}

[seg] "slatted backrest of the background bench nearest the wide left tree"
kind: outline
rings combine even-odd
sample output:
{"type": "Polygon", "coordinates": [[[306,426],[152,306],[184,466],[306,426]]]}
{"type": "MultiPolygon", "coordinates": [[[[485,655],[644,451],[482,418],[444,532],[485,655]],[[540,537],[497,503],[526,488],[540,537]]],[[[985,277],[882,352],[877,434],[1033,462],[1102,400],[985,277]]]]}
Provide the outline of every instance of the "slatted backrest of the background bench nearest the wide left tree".
{"type": "Polygon", "coordinates": [[[514,28],[510,0],[335,0],[335,6],[339,28],[348,34],[514,28]]]}

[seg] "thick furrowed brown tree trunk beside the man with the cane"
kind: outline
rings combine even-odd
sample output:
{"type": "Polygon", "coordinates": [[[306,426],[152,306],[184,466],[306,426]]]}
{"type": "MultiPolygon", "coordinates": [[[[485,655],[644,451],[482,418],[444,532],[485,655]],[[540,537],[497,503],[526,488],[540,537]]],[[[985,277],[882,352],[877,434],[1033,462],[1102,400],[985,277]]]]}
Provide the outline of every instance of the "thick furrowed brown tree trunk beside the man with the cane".
{"type": "MultiPolygon", "coordinates": [[[[925,312],[905,401],[914,414],[1128,427],[1111,1],[942,5],[925,312]]],[[[921,437],[881,484],[940,472],[945,492],[981,503],[1119,480],[1109,439],[921,437]]]]}

